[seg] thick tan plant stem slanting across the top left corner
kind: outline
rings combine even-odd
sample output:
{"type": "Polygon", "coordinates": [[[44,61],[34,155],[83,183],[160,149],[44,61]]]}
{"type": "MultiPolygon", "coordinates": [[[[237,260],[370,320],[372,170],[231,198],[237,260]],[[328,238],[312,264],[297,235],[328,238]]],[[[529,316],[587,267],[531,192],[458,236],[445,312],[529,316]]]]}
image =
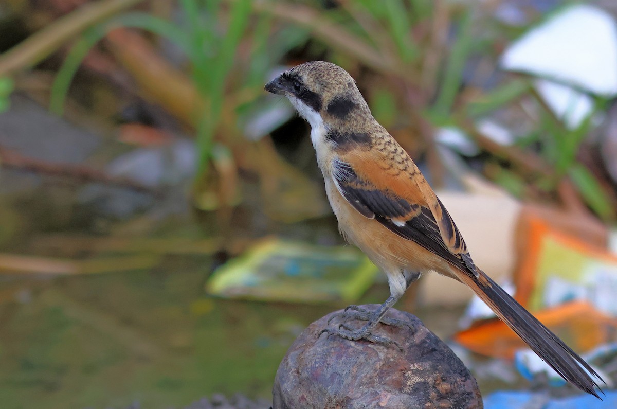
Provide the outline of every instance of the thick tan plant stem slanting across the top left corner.
{"type": "Polygon", "coordinates": [[[0,55],[0,77],[38,64],[86,28],[141,1],[143,0],[104,0],[80,6],[0,55]]]}

